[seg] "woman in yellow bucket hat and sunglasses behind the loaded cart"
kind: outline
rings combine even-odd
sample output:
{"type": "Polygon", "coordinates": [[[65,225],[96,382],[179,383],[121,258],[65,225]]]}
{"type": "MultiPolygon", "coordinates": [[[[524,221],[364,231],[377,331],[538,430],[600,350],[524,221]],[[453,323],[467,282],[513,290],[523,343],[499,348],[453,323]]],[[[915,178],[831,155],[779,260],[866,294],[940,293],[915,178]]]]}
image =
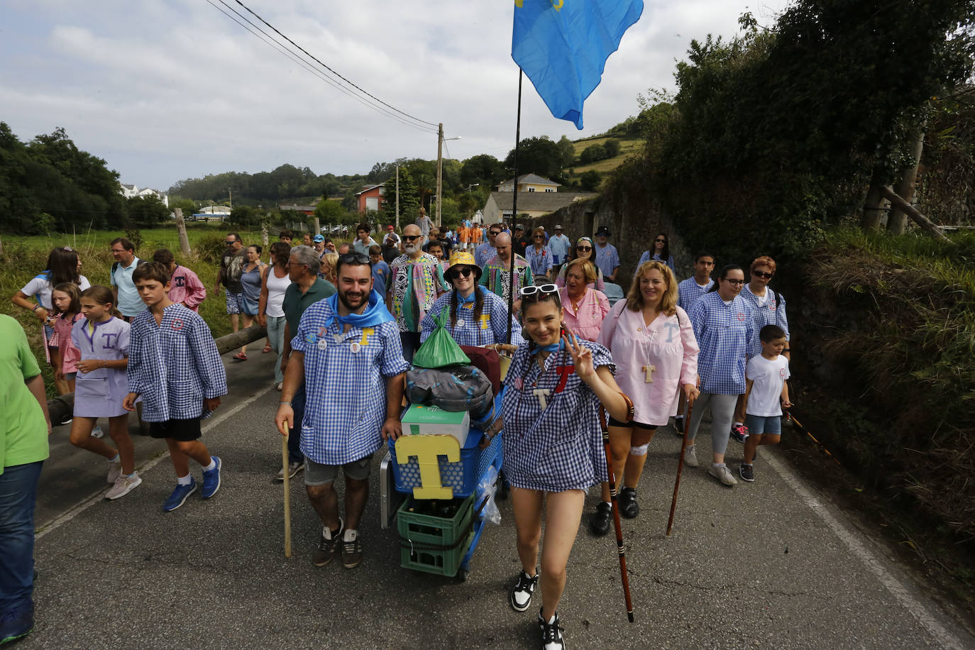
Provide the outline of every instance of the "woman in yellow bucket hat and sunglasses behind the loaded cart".
{"type": "Polygon", "coordinates": [[[466,250],[450,254],[450,266],[444,274],[453,290],[437,298],[433,307],[420,324],[420,341],[433,333],[437,323],[435,316],[445,311],[449,314],[448,331],[457,345],[491,345],[507,343],[508,326],[511,326],[511,344],[521,345],[522,325],[508,318],[508,305],[495,293],[478,285],[481,268],[474,262],[474,255],[466,250]]]}

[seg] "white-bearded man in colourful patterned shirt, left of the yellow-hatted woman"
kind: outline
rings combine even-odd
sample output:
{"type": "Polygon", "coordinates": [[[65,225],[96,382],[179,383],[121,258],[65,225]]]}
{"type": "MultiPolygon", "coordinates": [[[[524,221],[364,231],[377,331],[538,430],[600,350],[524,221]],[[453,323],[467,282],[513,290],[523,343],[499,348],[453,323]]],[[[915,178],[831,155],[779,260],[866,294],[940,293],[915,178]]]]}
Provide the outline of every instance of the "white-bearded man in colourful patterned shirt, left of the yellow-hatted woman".
{"type": "Polygon", "coordinates": [[[412,362],[420,347],[420,323],[434,301],[447,291],[444,267],[440,260],[423,252],[423,233],[410,223],[403,229],[404,253],[390,264],[391,275],[386,289],[386,306],[400,327],[403,356],[412,362]]]}

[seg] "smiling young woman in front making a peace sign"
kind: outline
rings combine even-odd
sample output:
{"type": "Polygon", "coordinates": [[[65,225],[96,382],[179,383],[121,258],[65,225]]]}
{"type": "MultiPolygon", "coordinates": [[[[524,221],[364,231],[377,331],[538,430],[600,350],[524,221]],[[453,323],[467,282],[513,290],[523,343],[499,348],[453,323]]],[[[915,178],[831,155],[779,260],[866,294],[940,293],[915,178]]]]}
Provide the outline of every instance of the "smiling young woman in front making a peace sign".
{"type": "Polygon", "coordinates": [[[542,646],[563,647],[556,608],[565,589],[565,564],[579,529],[585,490],[606,479],[600,402],[612,417],[630,419],[627,399],[613,380],[608,351],[565,331],[558,287],[524,287],[522,320],[528,343],[508,370],[501,416],[487,428],[483,446],[504,429],[504,474],[522,571],[509,603],[524,612],[538,583],[542,544],[542,646]]]}

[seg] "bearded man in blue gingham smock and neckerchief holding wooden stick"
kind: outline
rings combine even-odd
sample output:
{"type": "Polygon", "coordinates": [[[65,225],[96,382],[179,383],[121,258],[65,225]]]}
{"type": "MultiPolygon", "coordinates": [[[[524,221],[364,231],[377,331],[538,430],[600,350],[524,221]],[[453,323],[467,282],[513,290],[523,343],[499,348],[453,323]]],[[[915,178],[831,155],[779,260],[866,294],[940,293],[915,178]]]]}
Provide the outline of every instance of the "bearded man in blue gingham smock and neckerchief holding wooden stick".
{"type": "Polygon", "coordinates": [[[301,315],[292,338],[275,422],[301,427],[305,489],[324,529],[312,560],[317,566],[341,554],[346,568],[362,561],[359,520],[369,498],[372,454],[401,431],[400,403],[409,364],[400,328],[372,290],[370,258],[338,258],[335,295],[301,315]],[[304,382],[305,411],[293,421],[292,396],[304,382]],[[345,519],[338,516],[334,481],[345,475],[345,519]]]}

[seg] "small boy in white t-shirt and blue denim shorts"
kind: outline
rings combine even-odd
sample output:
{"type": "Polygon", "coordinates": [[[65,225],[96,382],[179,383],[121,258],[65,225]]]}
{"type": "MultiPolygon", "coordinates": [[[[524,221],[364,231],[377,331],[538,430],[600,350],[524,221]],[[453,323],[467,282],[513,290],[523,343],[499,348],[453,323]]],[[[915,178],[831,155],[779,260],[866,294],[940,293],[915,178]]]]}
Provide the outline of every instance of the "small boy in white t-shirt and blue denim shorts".
{"type": "Polygon", "coordinates": [[[752,461],[760,444],[778,444],[782,438],[782,407],[790,408],[789,360],[782,356],[789,342],[778,325],[765,325],[759,332],[761,355],[752,357],[745,366],[745,426],[750,436],[745,440],[745,461],[738,475],[748,482],[755,480],[752,461]]]}

